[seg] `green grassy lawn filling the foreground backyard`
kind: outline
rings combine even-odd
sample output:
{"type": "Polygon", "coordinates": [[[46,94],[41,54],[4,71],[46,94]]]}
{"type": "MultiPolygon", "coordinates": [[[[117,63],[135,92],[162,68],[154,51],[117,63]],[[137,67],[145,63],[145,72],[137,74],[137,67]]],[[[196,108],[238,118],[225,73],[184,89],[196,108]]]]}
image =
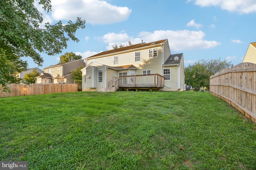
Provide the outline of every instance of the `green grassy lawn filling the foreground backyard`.
{"type": "Polygon", "coordinates": [[[0,160],[28,169],[256,169],[256,125],[208,92],[0,98],[0,160]]]}

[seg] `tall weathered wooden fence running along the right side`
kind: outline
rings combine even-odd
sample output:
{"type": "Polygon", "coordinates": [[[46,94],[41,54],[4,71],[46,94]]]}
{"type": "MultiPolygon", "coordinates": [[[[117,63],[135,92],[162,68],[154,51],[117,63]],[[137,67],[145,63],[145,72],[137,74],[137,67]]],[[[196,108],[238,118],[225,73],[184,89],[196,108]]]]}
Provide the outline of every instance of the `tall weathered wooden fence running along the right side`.
{"type": "Polygon", "coordinates": [[[256,64],[240,63],[210,77],[210,93],[256,123],[256,64]]]}

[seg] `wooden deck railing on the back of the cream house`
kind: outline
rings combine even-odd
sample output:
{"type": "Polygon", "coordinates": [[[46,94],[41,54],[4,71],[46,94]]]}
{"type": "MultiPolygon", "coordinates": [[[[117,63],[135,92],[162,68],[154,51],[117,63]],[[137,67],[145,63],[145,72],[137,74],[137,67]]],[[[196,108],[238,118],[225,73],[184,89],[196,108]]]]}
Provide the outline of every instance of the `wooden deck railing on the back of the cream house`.
{"type": "Polygon", "coordinates": [[[119,76],[119,87],[164,87],[164,76],[146,74],[134,76],[119,76]]]}

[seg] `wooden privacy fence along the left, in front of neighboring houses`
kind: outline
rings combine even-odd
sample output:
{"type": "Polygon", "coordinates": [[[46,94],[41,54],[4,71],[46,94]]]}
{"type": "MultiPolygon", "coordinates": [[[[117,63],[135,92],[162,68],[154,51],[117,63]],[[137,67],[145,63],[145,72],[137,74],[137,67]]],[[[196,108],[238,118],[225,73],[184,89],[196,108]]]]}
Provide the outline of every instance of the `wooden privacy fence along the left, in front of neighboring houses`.
{"type": "Polygon", "coordinates": [[[0,85],[0,97],[28,96],[37,94],[77,92],[77,84],[8,84],[11,93],[3,92],[0,85]]]}

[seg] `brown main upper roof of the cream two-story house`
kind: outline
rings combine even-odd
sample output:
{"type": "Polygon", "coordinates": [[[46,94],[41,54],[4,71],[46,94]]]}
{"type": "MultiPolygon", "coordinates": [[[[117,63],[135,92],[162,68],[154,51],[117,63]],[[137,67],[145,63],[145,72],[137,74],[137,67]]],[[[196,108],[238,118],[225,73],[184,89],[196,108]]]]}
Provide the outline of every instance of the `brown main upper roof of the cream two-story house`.
{"type": "Polygon", "coordinates": [[[130,45],[130,46],[126,46],[126,47],[122,47],[122,48],[118,48],[118,49],[103,51],[101,53],[98,53],[98,54],[93,55],[91,57],[88,57],[86,59],[93,58],[93,57],[98,57],[98,56],[102,56],[102,55],[109,55],[109,54],[119,53],[119,52],[122,52],[122,51],[128,51],[128,50],[133,50],[133,49],[150,47],[151,45],[162,44],[165,41],[167,41],[167,39],[163,39],[163,40],[159,40],[159,41],[154,41],[154,42],[150,42],[150,43],[140,43],[140,44],[130,45]]]}

